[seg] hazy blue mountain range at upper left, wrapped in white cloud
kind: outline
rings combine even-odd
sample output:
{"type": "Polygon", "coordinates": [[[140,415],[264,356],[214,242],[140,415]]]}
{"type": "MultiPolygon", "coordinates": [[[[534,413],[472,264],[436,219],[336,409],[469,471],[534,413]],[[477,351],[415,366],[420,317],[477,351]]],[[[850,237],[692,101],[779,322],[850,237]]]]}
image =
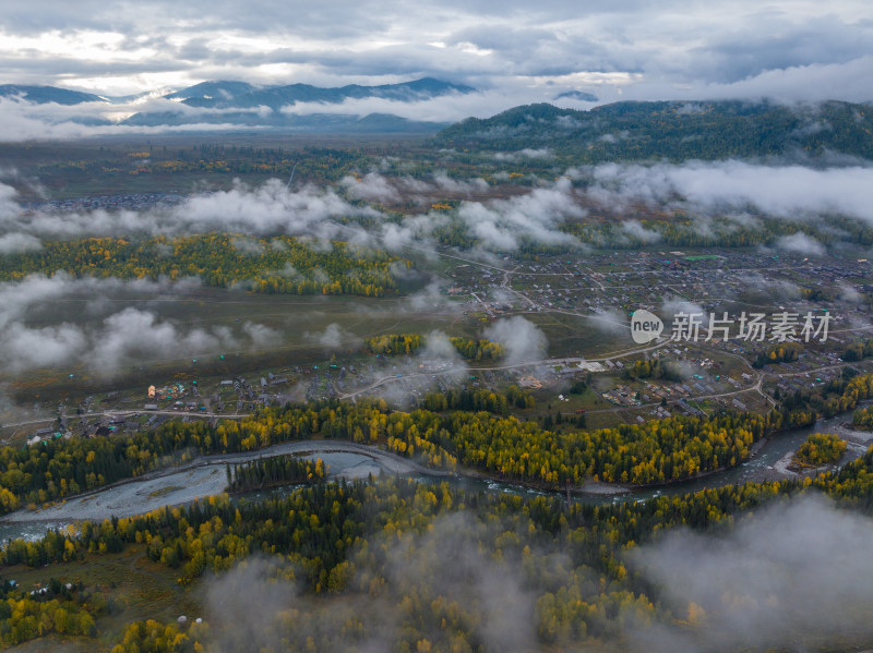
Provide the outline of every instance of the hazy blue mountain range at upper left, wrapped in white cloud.
{"type": "MultiPolygon", "coordinates": [[[[476,89],[451,84],[432,77],[384,84],[323,88],[310,84],[285,86],[254,86],[247,82],[203,82],[164,96],[190,107],[192,110],[158,110],[134,113],[121,124],[141,126],[183,126],[198,124],[227,124],[239,126],[283,128],[306,132],[420,132],[433,134],[449,123],[407,120],[388,113],[366,116],[330,113],[295,114],[282,111],[300,102],[338,105],[348,99],[386,99],[400,102],[428,100],[447,95],[463,95],[476,89]],[[198,111],[203,109],[204,111],[198,111]]],[[[79,105],[84,102],[119,104],[136,96],[110,97],[80,93],[53,86],[0,85],[0,97],[17,97],[24,101],[45,105],[79,105]]],[[[69,118],[68,118],[69,119],[69,118]]],[[[110,124],[94,117],[73,119],[88,124],[110,124]]]]}

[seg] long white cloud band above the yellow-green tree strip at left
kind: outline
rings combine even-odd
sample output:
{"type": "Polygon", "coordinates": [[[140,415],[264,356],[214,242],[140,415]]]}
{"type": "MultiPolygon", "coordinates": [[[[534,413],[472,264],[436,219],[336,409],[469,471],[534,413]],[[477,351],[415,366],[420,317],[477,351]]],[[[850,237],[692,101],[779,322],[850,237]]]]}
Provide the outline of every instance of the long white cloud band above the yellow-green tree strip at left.
{"type": "MultiPolygon", "coordinates": [[[[436,173],[430,181],[386,178],[376,172],[361,181],[347,177],[342,182],[352,199],[394,202],[415,192],[439,195],[451,192],[464,196],[488,190],[481,179],[455,180],[436,173]],[[422,186],[427,186],[426,189],[422,186]]],[[[514,251],[525,241],[579,247],[579,242],[561,231],[566,219],[584,217],[570,180],[509,199],[474,202],[465,199],[456,210],[432,210],[409,216],[400,222],[388,221],[385,215],[369,205],[352,204],[335,189],[304,185],[289,190],[280,180],[272,179],[259,186],[237,182],[227,191],[193,195],[174,206],[143,211],[23,211],[15,202],[15,191],[0,184],[0,252],[36,249],[39,238],[81,238],[131,234],[188,234],[228,231],[251,237],[285,233],[311,239],[313,246],[330,249],[332,240],[344,240],[362,246],[384,246],[398,251],[412,244],[432,247],[438,230],[458,229],[473,235],[490,251],[514,251]],[[376,222],[369,231],[348,218],[376,222]]],[[[260,245],[238,238],[235,246],[242,252],[258,253],[260,245]]]]}

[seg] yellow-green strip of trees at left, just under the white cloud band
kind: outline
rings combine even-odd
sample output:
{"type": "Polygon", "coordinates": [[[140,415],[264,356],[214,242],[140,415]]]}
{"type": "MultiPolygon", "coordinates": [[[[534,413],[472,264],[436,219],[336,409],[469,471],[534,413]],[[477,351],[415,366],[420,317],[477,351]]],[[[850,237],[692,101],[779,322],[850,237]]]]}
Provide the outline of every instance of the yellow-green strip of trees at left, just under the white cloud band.
{"type": "Polygon", "coordinates": [[[359,250],[333,241],[327,251],[295,237],[253,239],[204,233],[143,239],[88,238],[50,241],[36,251],[0,259],[0,280],[29,274],[74,277],[171,280],[199,278],[206,286],[279,294],[356,294],[381,297],[396,287],[392,266],[409,261],[380,250],[359,250]]]}

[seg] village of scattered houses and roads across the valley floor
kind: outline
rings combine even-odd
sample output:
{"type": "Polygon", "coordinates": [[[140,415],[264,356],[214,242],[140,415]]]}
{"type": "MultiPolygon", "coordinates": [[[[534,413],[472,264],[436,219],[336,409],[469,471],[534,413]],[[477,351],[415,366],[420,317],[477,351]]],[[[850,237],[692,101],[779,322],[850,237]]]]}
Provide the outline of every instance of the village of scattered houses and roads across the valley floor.
{"type": "Polygon", "coordinates": [[[462,363],[346,348],[311,364],[236,372],[226,366],[230,374],[220,377],[191,365],[172,380],[71,396],[58,403],[51,419],[47,410],[55,409],[37,401],[32,420],[21,420],[29,425],[7,432],[7,437],[24,433],[29,443],[98,437],[153,428],[174,418],[239,418],[288,401],[370,396],[411,408],[428,392],[457,387],[500,392],[510,385],[534,394],[534,416],[559,411],[585,415],[588,425],[717,409],[762,411],[775,404],[774,395],[821,387],[840,375],[850,362],[844,360],[847,349],[864,342],[871,331],[866,293],[873,289],[873,270],[860,258],[825,263],[797,254],[728,250],[706,256],[618,251],[542,259],[505,254],[488,263],[457,258],[447,259],[452,263],[441,273],[440,292],[463,314],[467,328],[528,316],[543,325],[549,341],[545,358],[511,365],[462,363]],[[653,347],[634,348],[625,322],[638,309],[660,312],[666,319],[670,310],[736,319],[744,311],[802,315],[824,306],[833,316],[826,338],[804,342],[791,356],[779,359],[767,339],[707,338],[705,327],[698,341],[673,340],[668,327],[653,347]],[[672,365],[677,376],[637,377],[632,371],[637,361],[672,365]],[[571,392],[578,382],[585,390],[571,392]]]}

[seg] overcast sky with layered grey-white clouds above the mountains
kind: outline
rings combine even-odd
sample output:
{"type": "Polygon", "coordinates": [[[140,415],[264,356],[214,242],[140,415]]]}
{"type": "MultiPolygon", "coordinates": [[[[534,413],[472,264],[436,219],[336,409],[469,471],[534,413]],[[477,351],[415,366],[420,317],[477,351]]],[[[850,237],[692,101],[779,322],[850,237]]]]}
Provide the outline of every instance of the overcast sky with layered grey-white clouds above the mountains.
{"type": "Polygon", "coordinates": [[[871,100],[873,2],[5,1],[0,71],[0,83],[112,95],[431,75],[506,106],[569,89],[603,101],[871,100]]]}

